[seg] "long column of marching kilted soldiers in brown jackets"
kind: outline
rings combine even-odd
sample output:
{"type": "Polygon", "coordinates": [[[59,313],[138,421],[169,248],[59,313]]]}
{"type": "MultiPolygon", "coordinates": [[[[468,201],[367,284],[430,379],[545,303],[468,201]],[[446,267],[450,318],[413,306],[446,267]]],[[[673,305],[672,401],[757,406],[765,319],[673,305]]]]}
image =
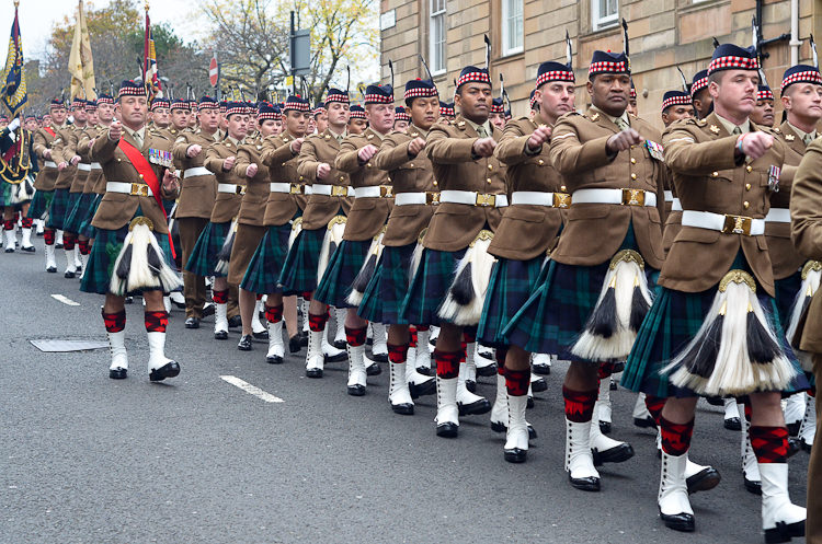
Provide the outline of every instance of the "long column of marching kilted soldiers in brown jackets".
{"type": "MultiPolygon", "coordinates": [[[[446,438],[460,417],[490,412],[513,463],[536,439],[526,409],[545,381],[534,374],[569,360],[564,470],[587,491],[601,489],[597,466],[633,455],[607,436],[610,377],[623,372],[639,393],[635,423],[658,429],[660,518],[677,531],[695,530],[689,495],[720,481],[688,459],[697,398],[718,400],[741,429],[765,541],[787,542],[806,531],[787,460],[813,443],[822,351],[810,303],[822,266],[809,261],[822,257],[822,143],[811,143],[822,78],[788,69],[786,119],[773,127],[758,68],[752,48],[720,45],[688,92],[665,93],[662,134],[633,115],[630,61],[609,51],[591,59],[586,112],[569,58],[539,66],[530,114],[516,119],[492,97],[487,67],[460,71],[455,105],[414,79],[396,109],[391,85],[369,85],[363,107],[330,89],[311,109],[298,95],[149,106],[125,81],[116,100],[73,101],[71,125],[55,101],[42,127],[2,132],[3,152],[32,132],[41,166],[27,213],[4,184],[5,251],[21,207],[23,251],[45,219],[47,271],[62,233],[66,277],[82,270],[81,290],[105,296],[113,379],[128,372],[128,298],[145,300],[149,377],[161,381],[180,372],[164,355],[163,293],[183,289],[185,326],[197,328],[208,281],[216,339],[235,326],[240,350],[267,338],[270,363],[284,362],[286,344],[307,347],[309,378],[347,360],[353,396],[387,361],[393,412],[435,394],[446,438]],[[493,405],[475,394],[477,374],[496,377],[493,405]]],[[[810,494],[812,511],[818,502],[810,494]]]]}

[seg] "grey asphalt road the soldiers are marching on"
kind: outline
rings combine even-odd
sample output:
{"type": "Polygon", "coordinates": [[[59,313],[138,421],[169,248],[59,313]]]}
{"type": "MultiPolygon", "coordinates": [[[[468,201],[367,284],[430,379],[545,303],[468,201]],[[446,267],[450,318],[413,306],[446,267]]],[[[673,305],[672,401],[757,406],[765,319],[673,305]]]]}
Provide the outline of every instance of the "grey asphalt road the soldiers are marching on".
{"type": "MultiPolygon", "coordinates": [[[[343,363],[309,380],[305,351],[266,364],[264,344],[238,351],[237,332],[216,342],[210,319],[186,331],[178,310],[167,355],[182,373],[150,384],[139,301],[127,306],[129,378],[112,381],[107,350],[30,344],[104,339],[101,297],[45,274],[39,241],[36,255],[0,254],[0,543],[763,542],[739,435],[722,428],[719,408],[700,404],[692,459],[716,466],[722,483],[692,496],[696,533],[676,533],[658,519],[654,435],[632,426],[625,390],[612,395],[612,436],[637,455],[604,467],[598,494],[570,487],[561,366],[528,413],[539,433],[528,461],[512,465],[488,416],[463,418],[456,440],[436,438],[435,398],[395,415],[387,372],[351,397],[343,363]]],[[[479,391],[493,400],[493,381],[481,379],[479,391]]],[[[790,464],[791,496],[803,505],[808,455],[790,464]]]]}

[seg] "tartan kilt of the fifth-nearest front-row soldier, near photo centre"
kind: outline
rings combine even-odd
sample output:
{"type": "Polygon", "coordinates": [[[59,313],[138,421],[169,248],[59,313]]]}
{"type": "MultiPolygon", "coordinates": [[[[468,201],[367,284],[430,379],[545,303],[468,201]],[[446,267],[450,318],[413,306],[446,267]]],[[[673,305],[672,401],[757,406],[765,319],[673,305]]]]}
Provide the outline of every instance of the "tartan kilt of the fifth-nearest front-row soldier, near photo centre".
{"type": "Polygon", "coordinates": [[[411,275],[411,258],[416,242],[383,247],[383,254],[363,293],[357,315],[373,323],[408,325],[400,315],[402,301],[408,293],[411,275]]]}

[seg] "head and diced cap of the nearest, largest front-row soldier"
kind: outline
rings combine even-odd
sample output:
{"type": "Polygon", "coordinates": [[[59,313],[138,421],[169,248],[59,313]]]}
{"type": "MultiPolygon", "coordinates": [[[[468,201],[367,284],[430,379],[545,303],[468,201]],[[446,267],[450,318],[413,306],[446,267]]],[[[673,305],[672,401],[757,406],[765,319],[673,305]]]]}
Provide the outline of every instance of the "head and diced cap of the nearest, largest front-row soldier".
{"type": "Polygon", "coordinates": [[[708,92],[713,109],[726,119],[746,119],[756,106],[760,62],[753,47],[722,44],[708,65],[708,92]]]}

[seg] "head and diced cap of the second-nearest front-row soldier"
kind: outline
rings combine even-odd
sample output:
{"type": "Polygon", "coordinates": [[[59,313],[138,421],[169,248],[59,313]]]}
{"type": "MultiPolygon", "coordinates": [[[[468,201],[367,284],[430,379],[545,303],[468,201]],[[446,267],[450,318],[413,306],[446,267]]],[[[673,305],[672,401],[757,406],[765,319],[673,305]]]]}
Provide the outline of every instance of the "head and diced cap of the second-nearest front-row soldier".
{"type": "Polygon", "coordinates": [[[631,74],[628,57],[621,53],[594,51],[587,69],[591,103],[612,117],[619,117],[630,101],[631,74]]]}

